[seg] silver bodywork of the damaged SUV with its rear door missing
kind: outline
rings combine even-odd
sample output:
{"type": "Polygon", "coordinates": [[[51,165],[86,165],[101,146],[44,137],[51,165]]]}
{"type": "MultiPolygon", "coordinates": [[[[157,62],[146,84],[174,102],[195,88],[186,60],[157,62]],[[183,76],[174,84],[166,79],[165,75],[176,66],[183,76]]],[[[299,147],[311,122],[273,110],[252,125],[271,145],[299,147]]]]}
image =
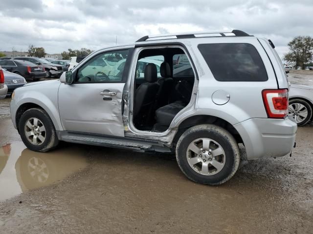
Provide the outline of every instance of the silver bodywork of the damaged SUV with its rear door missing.
{"type": "MultiPolygon", "coordinates": [[[[75,74],[90,58],[100,53],[129,48],[134,49],[134,52],[127,58],[131,65],[124,71],[127,76],[124,82],[74,83],[69,85],[55,81],[54,86],[49,87],[51,90],[46,90],[46,92],[43,92],[42,87],[48,88],[48,85],[44,84],[36,85],[36,89],[30,87],[18,89],[16,92],[17,100],[13,100],[11,104],[13,122],[19,105],[25,101],[31,101],[45,109],[56,130],[59,131],[58,136],[61,140],[80,143],[86,140],[87,144],[116,145],[118,147],[118,140],[111,141],[110,137],[125,137],[123,144],[120,143],[123,147],[140,148],[140,150],[157,148],[158,151],[168,152],[169,148],[175,146],[173,141],[180,124],[184,120],[196,116],[207,116],[229,123],[238,132],[246,147],[248,159],[283,156],[291,151],[296,124],[287,118],[269,119],[262,99],[262,90],[264,89],[289,87],[280,61],[265,39],[256,37],[200,37],[136,42],[96,51],[78,64],[72,72],[75,74]],[[199,44],[209,43],[247,43],[253,45],[264,63],[268,79],[262,82],[218,81],[214,78],[198,48],[199,44]],[[185,52],[195,74],[193,92],[189,104],[174,117],[166,131],[140,131],[134,126],[132,112],[136,61],[143,49],[159,47],[178,47],[185,52]],[[116,92],[116,96],[112,96],[110,97],[112,100],[106,101],[103,96],[99,95],[104,90],[116,92]],[[223,95],[225,97],[222,97],[223,95]],[[222,104],[218,104],[223,98],[228,99],[225,102],[222,101],[222,104]],[[75,137],[75,132],[80,136],[75,137]],[[90,134],[90,136],[86,137],[86,134],[90,134]],[[98,135],[92,137],[92,134],[98,135]],[[127,145],[127,142],[131,142],[129,140],[131,138],[136,139],[136,141],[127,145]],[[146,142],[145,147],[142,147],[140,141],[146,142]],[[284,147],[275,148],[276,144],[284,145],[284,147]]],[[[119,140],[121,141],[121,139],[119,140]]]]}

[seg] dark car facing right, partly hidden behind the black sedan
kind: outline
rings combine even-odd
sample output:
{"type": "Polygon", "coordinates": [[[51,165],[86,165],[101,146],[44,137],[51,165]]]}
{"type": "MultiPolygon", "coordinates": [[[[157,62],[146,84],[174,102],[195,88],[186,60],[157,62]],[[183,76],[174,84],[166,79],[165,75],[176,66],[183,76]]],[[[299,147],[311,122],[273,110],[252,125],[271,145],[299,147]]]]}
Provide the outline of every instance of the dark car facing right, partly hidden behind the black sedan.
{"type": "Polygon", "coordinates": [[[14,60],[24,60],[35,63],[37,65],[45,67],[46,77],[60,77],[63,73],[61,65],[53,64],[45,59],[34,58],[34,57],[16,57],[14,60]]]}

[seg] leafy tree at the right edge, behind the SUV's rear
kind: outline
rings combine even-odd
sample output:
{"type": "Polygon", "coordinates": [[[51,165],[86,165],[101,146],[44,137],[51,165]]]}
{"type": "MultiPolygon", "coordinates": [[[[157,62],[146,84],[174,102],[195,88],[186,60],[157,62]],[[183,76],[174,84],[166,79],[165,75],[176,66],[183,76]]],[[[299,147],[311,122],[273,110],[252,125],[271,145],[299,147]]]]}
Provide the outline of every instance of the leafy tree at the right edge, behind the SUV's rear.
{"type": "Polygon", "coordinates": [[[288,43],[289,52],[285,54],[284,59],[305,68],[306,64],[312,60],[313,56],[313,38],[310,36],[298,36],[288,43]]]}

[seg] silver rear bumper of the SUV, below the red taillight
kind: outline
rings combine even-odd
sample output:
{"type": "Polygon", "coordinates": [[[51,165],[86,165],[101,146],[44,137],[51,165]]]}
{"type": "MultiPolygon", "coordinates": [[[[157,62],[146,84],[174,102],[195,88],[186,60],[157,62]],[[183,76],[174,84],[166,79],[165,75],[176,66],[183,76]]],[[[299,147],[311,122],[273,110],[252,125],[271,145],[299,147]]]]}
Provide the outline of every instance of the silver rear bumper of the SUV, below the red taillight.
{"type": "Polygon", "coordinates": [[[244,141],[247,159],[289,154],[297,131],[297,124],[288,118],[251,118],[234,127],[244,141]]]}

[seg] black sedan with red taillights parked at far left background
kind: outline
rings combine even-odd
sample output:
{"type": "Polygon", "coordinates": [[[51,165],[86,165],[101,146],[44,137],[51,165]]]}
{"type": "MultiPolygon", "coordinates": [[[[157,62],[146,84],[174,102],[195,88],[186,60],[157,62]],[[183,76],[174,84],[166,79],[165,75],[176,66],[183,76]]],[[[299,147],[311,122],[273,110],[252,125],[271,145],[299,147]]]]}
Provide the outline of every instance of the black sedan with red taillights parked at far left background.
{"type": "Polygon", "coordinates": [[[1,67],[5,68],[9,72],[21,75],[27,80],[37,81],[40,78],[45,78],[45,68],[38,66],[29,61],[23,60],[2,60],[0,61],[1,67]]]}

